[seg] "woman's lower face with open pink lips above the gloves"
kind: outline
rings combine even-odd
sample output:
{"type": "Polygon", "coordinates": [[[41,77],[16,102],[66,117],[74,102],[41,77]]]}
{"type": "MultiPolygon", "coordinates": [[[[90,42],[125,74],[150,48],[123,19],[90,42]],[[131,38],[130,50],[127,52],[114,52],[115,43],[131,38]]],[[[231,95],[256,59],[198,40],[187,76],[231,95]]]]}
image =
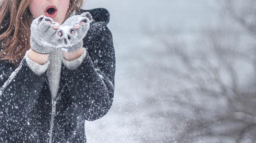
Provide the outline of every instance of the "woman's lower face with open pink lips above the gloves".
{"type": "Polygon", "coordinates": [[[62,24],[70,0],[30,0],[29,9],[34,18],[44,15],[62,24]]]}

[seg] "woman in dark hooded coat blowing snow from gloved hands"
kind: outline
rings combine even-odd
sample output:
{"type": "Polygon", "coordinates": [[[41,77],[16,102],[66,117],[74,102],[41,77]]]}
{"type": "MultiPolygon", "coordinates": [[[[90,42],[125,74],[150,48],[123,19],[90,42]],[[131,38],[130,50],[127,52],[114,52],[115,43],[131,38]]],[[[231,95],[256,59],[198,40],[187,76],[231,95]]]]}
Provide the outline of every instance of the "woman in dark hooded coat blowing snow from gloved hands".
{"type": "Polygon", "coordinates": [[[84,120],[110,109],[115,51],[109,13],[80,9],[82,3],[0,1],[1,143],[86,142],[84,120]]]}

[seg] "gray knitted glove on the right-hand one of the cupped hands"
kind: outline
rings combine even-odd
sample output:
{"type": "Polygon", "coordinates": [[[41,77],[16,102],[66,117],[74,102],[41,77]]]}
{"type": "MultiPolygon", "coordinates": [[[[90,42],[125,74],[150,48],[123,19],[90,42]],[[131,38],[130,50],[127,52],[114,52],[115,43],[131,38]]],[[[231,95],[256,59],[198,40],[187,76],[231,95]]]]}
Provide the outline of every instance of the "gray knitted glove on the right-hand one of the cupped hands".
{"type": "Polygon", "coordinates": [[[74,15],[68,18],[59,28],[64,37],[63,51],[73,52],[83,46],[83,38],[86,36],[93,18],[89,12],[74,15]]]}

